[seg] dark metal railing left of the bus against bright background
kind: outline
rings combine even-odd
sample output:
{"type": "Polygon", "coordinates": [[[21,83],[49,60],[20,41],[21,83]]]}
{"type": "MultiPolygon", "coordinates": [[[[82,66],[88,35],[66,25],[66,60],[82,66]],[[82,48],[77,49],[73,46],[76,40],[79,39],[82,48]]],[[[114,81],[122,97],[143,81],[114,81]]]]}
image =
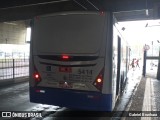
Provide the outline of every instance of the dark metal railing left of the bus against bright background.
{"type": "Polygon", "coordinates": [[[29,76],[29,59],[0,59],[0,80],[29,76]]]}

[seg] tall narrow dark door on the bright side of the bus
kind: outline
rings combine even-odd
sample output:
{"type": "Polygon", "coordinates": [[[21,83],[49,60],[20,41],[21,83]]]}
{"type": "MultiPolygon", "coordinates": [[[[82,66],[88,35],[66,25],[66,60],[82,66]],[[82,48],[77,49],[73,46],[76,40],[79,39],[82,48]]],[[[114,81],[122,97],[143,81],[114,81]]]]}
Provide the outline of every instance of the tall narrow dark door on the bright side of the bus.
{"type": "Polygon", "coordinates": [[[120,88],[120,66],[121,66],[121,38],[118,36],[118,51],[117,51],[117,80],[116,80],[116,95],[119,93],[120,88]]]}

